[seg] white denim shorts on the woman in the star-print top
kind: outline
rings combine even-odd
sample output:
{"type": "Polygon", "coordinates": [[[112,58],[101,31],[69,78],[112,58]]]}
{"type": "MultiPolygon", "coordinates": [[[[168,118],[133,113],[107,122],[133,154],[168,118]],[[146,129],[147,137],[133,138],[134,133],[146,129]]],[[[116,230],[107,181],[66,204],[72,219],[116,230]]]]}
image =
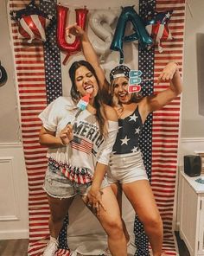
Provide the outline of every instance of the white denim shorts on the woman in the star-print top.
{"type": "Polygon", "coordinates": [[[107,170],[109,183],[130,183],[148,180],[140,151],[111,155],[107,170]]]}

